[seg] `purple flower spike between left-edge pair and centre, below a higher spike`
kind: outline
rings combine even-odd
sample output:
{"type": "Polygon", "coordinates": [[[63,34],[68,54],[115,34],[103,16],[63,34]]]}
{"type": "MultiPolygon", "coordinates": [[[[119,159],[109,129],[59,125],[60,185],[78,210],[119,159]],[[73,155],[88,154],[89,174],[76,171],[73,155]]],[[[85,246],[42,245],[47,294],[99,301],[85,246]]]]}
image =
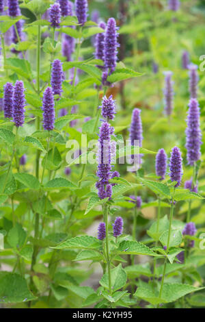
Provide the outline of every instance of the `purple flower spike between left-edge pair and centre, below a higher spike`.
{"type": "Polygon", "coordinates": [[[43,96],[43,127],[47,131],[51,131],[54,129],[54,122],[55,122],[55,103],[53,98],[53,91],[51,87],[47,87],[44,90],[43,96]]]}

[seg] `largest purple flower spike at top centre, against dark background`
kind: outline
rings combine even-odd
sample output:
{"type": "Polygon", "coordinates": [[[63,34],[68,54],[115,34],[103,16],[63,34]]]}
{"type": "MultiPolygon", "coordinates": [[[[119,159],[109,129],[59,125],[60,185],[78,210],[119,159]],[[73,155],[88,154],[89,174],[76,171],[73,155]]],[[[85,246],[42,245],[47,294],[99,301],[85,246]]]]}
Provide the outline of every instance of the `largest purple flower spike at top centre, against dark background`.
{"type": "Polygon", "coordinates": [[[107,21],[107,27],[105,31],[105,68],[109,70],[110,73],[115,71],[117,64],[118,55],[118,32],[116,27],[116,22],[114,18],[109,18],[107,21]]]}

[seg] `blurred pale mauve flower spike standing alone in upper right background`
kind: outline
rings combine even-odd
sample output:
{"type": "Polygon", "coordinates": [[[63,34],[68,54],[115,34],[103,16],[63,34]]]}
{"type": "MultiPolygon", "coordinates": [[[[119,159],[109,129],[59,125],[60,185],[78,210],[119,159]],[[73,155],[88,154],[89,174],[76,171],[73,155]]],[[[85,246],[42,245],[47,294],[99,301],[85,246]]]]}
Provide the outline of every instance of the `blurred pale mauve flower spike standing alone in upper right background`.
{"type": "Polygon", "coordinates": [[[164,88],[164,100],[165,100],[165,114],[167,116],[172,114],[173,110],[173,82],[172,82],[172,71],[167,71],[165,75],[165,88],[164,88]]]}

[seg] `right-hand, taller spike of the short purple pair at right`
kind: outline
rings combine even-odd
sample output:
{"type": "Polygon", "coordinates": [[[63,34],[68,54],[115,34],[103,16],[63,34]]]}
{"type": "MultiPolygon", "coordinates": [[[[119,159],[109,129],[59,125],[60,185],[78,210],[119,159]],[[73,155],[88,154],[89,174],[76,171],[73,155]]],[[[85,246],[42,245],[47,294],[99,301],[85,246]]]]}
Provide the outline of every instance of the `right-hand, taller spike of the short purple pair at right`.
{"type": "Polygon", "coordinates": [[[169,162],[169,169],[170,169],[170,179],[172,182],[176,181],[177,184],[175,187],[180,186],[181,179],[182,179],[182,156],[180,149],[178,147],[174,147],[172,149],[171,158],[169,162]]]}

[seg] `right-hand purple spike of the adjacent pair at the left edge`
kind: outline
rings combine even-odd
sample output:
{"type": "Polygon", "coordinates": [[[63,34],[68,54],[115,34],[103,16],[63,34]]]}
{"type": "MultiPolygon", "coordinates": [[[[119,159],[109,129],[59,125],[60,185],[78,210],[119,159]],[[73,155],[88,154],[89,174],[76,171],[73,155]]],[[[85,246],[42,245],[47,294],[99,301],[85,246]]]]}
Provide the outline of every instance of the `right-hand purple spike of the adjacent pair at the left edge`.
{"type": "Polygon", "coordinates": [[[23,126],[25,120],[25,88],[22,81],[16,81],[13,94],[13,119],[16,127],[23,126]]]}

